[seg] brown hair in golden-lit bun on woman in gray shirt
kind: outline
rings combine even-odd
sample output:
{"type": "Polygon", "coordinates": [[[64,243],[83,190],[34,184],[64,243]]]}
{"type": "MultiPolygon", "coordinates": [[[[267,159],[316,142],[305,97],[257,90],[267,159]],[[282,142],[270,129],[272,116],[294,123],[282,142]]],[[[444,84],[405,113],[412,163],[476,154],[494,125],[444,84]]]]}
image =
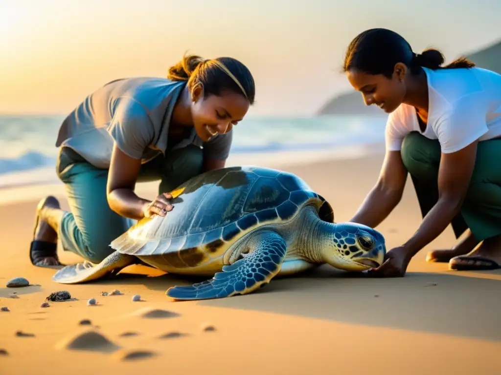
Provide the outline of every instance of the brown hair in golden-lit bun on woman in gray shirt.
{"type": "Polygon", "coordinates": [[[204,95],[218,95],[225,90],[243,94],[250,104],[254,104],[256,88],[249,69],[232,57],[203,59],[196,55],[184,55],[169,68],[167,78],[187,80],[189,89],[197,83],[203,84],[204,95]]]}

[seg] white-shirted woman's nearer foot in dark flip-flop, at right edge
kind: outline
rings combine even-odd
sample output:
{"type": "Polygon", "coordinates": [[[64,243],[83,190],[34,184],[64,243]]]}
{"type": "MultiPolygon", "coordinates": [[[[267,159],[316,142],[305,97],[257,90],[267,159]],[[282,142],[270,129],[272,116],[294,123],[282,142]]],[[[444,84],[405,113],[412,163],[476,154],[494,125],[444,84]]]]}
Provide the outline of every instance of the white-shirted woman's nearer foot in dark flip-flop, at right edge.
{"type": "Polygon", "coordinates": [[[450,259],[449,269],[480,270],[495,269],[501,266],[501,235],[486,238],[478,248],[466,255],[450,259]]]}

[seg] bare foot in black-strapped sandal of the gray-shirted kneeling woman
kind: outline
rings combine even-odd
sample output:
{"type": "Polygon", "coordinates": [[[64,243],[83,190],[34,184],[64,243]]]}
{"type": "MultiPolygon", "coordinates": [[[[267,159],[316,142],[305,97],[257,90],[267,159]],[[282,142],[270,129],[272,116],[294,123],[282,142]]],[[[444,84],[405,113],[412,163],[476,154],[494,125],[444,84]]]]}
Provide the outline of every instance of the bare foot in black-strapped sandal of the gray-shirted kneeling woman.
{"type": "MultiPolygon", "coordinates": [[[[44,241],[49,243],[57,244],[58,233],[54,230],[48,223],[46,219],[46,214],[48,209],[57,208],[60,209],[59,201],[54,196],[48,196],[42,199],[37,206],[36,211],[36,223],[35,231],[33,234],[33,239],[38,241],[44,241]]],[[[55,256],[44,256],[43,251],[34,249],[32,247],[32,262],[33,264],[43,267],[51,265],[60,265],[57,255],[55,256]]]]}

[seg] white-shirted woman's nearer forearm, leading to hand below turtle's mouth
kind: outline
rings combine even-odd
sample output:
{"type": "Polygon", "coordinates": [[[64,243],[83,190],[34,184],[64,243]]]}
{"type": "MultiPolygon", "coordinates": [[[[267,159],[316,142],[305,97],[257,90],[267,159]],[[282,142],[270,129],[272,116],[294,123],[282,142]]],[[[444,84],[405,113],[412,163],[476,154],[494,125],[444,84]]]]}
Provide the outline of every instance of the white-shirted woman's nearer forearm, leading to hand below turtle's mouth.
{"type": "Polygon", "coordinates": [[[441,198],[426,214],[414,235],[404,243],[403,247],[411,258],[420,249],[442,233],[452,218],[459,212],[461,201],[452,198],[441,198]]]}

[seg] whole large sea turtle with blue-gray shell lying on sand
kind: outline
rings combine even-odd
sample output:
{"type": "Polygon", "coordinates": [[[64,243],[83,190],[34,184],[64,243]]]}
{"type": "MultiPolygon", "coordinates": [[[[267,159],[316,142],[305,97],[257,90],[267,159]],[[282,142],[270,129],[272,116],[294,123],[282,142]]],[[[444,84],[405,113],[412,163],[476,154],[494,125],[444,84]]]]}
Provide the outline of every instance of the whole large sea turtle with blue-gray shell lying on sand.
{"type": "Polygon", "coordinates": [[[245,294],[277,274],[329,263],[344,270],[379,266],[386,246],[380,232],[334,223],[331,205],[295,174],[258,166],[214,169],[171,192],[166,216],[143,218],[113,240],[115,252],[98,264],[67,265],[53,279],[79,283],[133,263],[165,272],[207,275],[174,286],[175,299],[245,294]]]}

